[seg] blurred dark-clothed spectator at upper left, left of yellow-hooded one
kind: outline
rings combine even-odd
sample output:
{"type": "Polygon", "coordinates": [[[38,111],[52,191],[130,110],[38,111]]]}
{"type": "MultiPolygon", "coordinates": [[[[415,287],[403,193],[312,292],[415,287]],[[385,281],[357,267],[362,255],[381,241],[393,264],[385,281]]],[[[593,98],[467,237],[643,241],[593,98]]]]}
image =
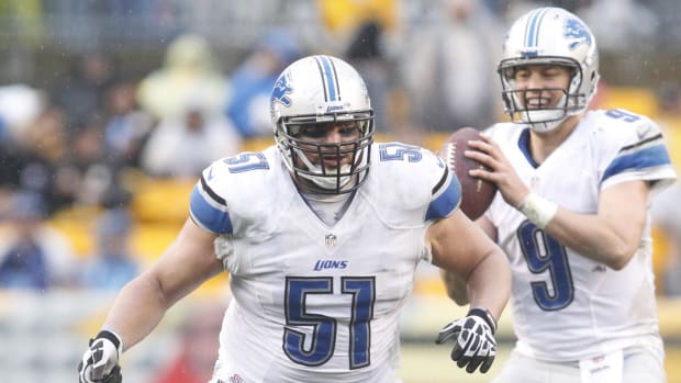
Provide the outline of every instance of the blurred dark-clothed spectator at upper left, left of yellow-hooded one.
{"type": "Polygon", "coordinates": [[[64,109],[69,126],[81,126],[104,105],[107,87],[113,79],[111,59],[100,52],[77,56],[71,72],[53,92],[54,103],[64,109]]]}

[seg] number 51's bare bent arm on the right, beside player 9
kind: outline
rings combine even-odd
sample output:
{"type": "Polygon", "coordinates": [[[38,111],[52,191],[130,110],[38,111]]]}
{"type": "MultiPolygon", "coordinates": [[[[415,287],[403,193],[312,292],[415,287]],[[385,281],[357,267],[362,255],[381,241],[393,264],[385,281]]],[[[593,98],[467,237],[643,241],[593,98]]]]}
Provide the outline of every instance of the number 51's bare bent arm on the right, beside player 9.
{"type": "Polygon", "coordinates": [[[426,238],[433,263],[444,269],[449,296],[459,304],[485,307],[499,319],[511,293],[511,269],[501,248],[460,211],[434,223],[426,238]]]}

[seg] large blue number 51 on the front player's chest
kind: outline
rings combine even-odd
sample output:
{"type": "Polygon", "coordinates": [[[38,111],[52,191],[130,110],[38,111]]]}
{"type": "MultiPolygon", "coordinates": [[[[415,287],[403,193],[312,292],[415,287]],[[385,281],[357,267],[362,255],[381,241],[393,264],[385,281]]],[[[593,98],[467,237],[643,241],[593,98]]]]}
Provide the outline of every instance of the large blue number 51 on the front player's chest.
{"type": "MultiPolygon", "coordinates": [[[[350,370],[360,369],[371,362],[370,323],[373,318],[376,280],[373,277],[342,277],[340,292],[350,294],[350,370]]],[[[283,352],[293,362],[303,365],[321,365],[334,354],[336,347],[336,319],[309,313],[305,301],[312,294],[333,294],[333,278],[294,278],[286,280],[286,323],[283,329],[283,352]],[[306,335],[295,326],[310,326],[312,333],[306,335]],[[311,339],[305,339],[308,336],[311,339]]]]}

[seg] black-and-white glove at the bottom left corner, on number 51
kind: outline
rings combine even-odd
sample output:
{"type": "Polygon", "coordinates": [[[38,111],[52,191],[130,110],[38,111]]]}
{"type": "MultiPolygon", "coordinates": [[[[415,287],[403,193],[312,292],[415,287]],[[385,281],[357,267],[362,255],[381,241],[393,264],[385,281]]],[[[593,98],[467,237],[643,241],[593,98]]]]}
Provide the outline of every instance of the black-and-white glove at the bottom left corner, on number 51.
{"type": "Polygon", "coordinates": [[[123,375],[119,365],[122,353],[121,338],[108,330],[90,339],[90,348],[78,364],[79,383],[121,383],[123,375]]]}

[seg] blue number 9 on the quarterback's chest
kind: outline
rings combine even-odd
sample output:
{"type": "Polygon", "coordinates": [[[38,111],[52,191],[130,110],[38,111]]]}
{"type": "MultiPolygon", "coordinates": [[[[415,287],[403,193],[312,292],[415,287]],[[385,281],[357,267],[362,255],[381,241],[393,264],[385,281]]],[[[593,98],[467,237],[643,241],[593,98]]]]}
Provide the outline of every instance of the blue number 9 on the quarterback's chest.
{"type": "Polygon", "coordinates": [[[549,312],[567,307],[574,298],[574,284],[565,247],[529,221],[521,225],[517,236],[527,269],[537,274],[545,271],[550,274],[550,290],[547,282],[529,283],[537,305],[549,312]]]}

